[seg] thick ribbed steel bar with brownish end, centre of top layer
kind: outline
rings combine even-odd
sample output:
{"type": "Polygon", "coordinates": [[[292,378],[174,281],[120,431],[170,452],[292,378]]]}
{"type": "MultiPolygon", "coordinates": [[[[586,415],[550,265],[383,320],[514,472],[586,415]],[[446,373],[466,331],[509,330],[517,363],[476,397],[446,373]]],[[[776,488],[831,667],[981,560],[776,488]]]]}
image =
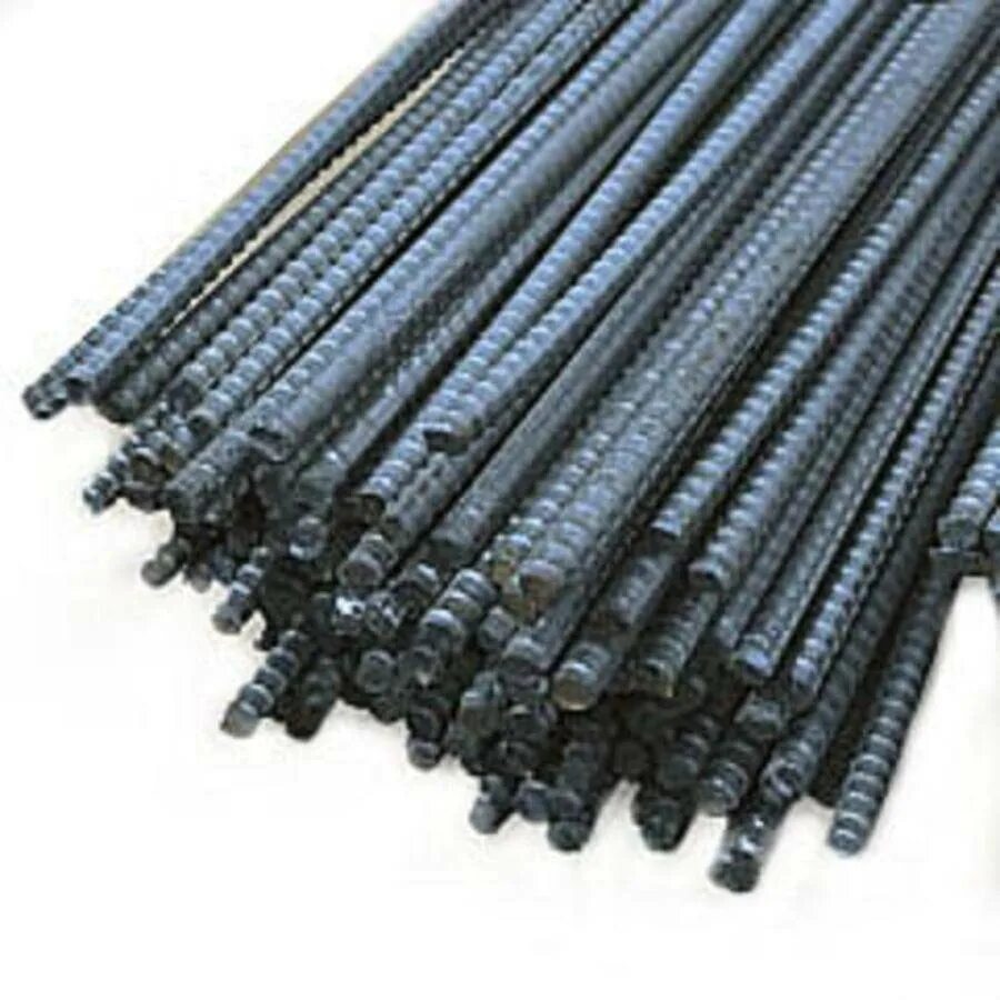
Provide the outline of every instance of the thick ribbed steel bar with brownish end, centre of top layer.
{"type": "Polygon", "coordinates": [[[778,200],[716,294],[686,317],[678,342],[637,362],[637,383],[663,381],[632,421],[621,459],[606,460],[607,472],[591,478],[519,571],[516,586],[528,598],[529,613],[540,613],[571,580],[602,571],[620,532],[671,468],[679,442],[767,336],[791,289],[964,57],[977,23],[968,9],[931,10],[890,60],[882,86],[861,99],[778,200]],[[917,86],[909,71],[916,62],[927,70],[917,86]],[[873,121],[880,122],[877,129],[873,121]],[[870,142],[872,134],[880,141],[870,142]]]}

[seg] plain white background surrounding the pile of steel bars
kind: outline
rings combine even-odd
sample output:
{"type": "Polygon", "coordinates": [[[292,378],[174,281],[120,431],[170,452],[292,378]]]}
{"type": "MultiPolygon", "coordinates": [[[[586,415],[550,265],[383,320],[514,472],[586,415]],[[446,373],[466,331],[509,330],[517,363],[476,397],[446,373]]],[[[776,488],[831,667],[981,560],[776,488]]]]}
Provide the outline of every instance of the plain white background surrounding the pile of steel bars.
{"type": "Polygon", "coordinates": [[[114,442],[21,388],[426,4],[0,0],[0,996],[1000,996],[998,621],[968,584],[871,850],[803,807],[763,883],[720,828],[579,857],[466,826],[473,784],[339,710],[303,747],[217,728],[254,659],[138,581],[164,524],[79,502],[114,442]],[[180,991],[183,991],[181,993],[180,991]]]}

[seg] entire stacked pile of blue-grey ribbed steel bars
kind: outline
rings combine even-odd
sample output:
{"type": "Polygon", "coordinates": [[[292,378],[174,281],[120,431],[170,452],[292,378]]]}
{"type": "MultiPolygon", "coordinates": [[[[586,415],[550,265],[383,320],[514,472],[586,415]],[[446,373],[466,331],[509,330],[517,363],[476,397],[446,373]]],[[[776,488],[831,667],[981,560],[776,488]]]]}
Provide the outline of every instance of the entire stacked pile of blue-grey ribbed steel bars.
{"type": "Polygon", "coordinates": [[[94,511],[559,850],[794,803],[870,839],[959,579],[1000,586],[996,0],[452,0],[26,392],[94,511]]]}

